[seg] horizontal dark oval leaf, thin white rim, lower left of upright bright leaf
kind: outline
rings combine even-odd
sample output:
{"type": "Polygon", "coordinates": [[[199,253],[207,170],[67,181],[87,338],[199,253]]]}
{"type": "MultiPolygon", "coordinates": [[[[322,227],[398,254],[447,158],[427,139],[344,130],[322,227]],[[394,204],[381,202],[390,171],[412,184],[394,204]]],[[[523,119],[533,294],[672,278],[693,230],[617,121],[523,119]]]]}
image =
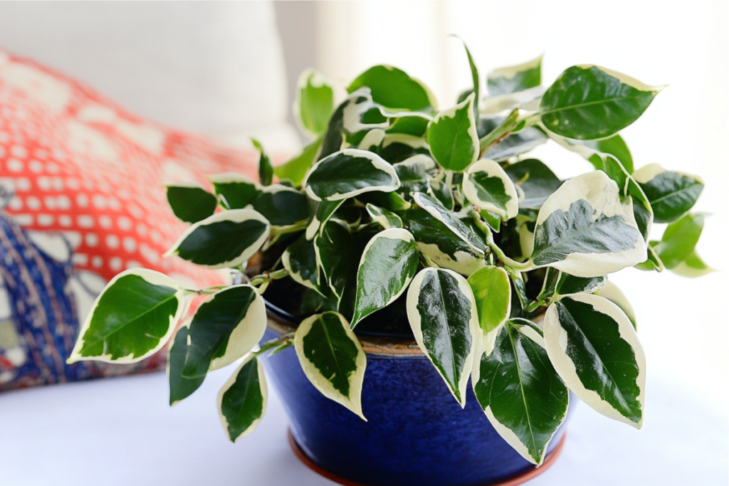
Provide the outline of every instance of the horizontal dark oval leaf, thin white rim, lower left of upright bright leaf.
{"type": "Polygon", "coordinates": [[[311,199],[333,201],[364,192],[392,192],[400,181],[392,165],[377,154],[344,149],[316,162],[304,185],[311,199]]]}

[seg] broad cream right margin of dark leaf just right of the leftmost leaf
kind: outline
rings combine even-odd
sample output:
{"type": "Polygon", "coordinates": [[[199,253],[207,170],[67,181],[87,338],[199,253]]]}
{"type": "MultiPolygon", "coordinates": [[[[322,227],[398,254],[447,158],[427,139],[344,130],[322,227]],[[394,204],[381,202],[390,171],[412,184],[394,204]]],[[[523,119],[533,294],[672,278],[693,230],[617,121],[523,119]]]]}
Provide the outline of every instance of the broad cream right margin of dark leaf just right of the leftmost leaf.
{"type": "Polygon", "coordinates": [[[258,344],[266,332],[266,305],[263,297],[258,294],[258,290],[254,286],[248,285],[247,283],[230,286],[215,294],[208,302],[212,302],[222,292],[240,287],[248,287],[253,291],[255,297],[249,305],[246,315],[243,316],[243,319],[235,325],[233,332],[230,333],[227,346],[225,347],[225,353],[223,356],[214,358],[210,362],[209,371],[227,367],[233,361],[245,356],[246,353],[249,353],[258,344]]]}

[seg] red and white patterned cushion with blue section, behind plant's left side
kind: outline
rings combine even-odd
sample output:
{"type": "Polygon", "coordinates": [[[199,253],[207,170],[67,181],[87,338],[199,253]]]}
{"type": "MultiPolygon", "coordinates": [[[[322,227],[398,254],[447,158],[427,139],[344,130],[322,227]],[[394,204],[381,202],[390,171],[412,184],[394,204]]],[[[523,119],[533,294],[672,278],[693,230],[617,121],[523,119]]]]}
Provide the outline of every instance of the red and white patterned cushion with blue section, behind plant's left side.
{"type": "Polygon", "coordinates": [[[66,364],[93,299],[144,266],[188,288],[222,275],[160,257],[184,231],[163,182],[236,171],[256,152],[163,128],[94,90],[0,50],[0,391],[163,369],[66,364]]]}

